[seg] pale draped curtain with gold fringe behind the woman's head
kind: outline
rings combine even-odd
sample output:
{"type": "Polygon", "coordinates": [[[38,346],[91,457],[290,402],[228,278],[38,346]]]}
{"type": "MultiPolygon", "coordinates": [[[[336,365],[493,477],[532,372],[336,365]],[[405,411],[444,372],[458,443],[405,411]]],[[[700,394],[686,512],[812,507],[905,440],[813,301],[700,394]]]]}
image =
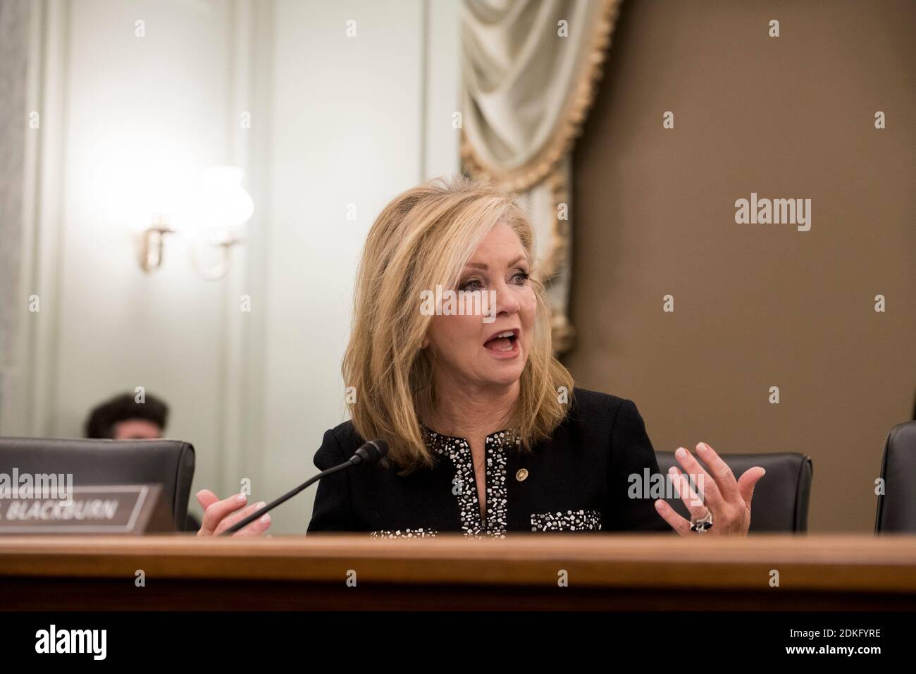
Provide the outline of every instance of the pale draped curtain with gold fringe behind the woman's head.
{"type": "Polygon", "coordinates": [[[567,318],[570,153],[603,74],[620,0],[463,0],[464,171],[518,193],[538,236],[554,350],[567,318]]]}

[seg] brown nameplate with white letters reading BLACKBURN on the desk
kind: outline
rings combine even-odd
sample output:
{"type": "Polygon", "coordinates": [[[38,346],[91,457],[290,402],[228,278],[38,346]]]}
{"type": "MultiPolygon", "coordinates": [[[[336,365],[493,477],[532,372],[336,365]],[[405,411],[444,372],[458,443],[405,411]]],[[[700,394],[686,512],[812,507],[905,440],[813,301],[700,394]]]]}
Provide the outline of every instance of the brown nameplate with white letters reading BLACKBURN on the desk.
{"type": "Polygon", "coordinates": [[[0,499],[0,534],[139,535],[175,531],[158,484],[72,487],[57,494],[0,499]]]}

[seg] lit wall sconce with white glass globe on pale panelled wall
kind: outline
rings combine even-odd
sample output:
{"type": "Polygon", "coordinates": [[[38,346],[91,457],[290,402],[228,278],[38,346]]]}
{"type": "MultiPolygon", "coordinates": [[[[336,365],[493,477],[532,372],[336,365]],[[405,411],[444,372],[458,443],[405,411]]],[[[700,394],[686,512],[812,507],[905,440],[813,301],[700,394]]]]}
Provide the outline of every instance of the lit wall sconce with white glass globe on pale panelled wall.
{"type": "MultiPolygon", "coordinates": [[[[214,166],[202,172],[201,191],[191,207],[192,222],[197,231],[191,233],[191,264],[206,281],[222,279],[229,271],[231,249],[240,243],[241,228],[251,218],[255,204],[242,187],[245,171],[235,166],[214,166]],[[196,235],[196,236],[195,236],[196,235]],[[202,265],[199,248],[217,246],[222,249],[220,261],[211,267],[202,265]]],[[[152,217],[140,239],[140,268],[154,271],[162,266],[163,244],[169,234],[178,233],[170,226],[169,214],[152,217]]]]}

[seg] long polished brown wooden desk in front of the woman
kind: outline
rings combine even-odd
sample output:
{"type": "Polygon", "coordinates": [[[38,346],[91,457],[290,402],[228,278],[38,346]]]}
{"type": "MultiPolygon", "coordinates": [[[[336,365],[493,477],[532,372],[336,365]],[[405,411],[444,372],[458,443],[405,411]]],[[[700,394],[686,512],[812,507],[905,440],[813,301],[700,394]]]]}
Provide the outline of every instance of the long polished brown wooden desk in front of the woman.
{"type": "Polygon", "coordinates": [[[916,536],[3,537],[0,608],[913,610],[916,536]]]}

